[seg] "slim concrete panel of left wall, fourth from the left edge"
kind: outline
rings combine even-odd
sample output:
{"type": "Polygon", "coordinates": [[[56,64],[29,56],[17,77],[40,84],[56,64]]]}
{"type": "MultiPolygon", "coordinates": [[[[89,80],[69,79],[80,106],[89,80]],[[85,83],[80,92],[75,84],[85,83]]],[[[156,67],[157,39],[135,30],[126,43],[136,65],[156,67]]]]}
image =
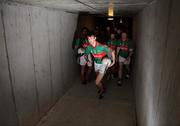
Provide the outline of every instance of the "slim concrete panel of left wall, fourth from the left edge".
{"type": "Polygon", "coordinates": [[[57,101],[59,96],[63,94],[63,74],[62,74],[62,51],[61,51],[61,15],[58,12],[48,12],[48,39],[49,39],[49,48],[50,48],[50,65],[51,65],[51,81],[52,81],[52,90],[53,90],[53,103],[57,101]],[[51,23],[53,22],[53,23],[51,23]],[[51,32],[50,32],[51,31],[51,32]]]}

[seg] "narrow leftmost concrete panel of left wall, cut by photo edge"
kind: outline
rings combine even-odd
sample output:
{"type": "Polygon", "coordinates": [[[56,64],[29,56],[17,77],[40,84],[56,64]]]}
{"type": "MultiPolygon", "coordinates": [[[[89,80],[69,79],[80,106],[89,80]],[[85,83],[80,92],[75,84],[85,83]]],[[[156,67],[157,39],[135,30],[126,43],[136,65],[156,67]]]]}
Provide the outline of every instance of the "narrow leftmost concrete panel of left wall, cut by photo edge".
{"type": "MultiPolygon", "coordinates": [[[[1,10],[0,5],[0,11],[1,10]]],[[[0,125],[14,125],[18,123],[16,108],[13,102],[13,92],[9,76],[6,43],[3,28],[3,15],[0,13],[0,125]]]]}

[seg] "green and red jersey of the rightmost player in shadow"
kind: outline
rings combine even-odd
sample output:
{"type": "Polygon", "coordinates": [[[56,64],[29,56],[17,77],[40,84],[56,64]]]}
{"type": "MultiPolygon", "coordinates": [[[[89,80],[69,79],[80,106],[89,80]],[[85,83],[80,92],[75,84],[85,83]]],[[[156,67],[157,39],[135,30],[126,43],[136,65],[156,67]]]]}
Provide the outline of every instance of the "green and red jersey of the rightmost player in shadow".
{"type": "Polygon", "coordinates": [[[120,48],[118,55],[121,57],[127,58],[129,56],[129,49],[131,48],[130,41],[129,40],[126,40],[126,41],[119,40],[119,41],[117,41],[116,45],[117,45],[117,47],[120,48]]]}

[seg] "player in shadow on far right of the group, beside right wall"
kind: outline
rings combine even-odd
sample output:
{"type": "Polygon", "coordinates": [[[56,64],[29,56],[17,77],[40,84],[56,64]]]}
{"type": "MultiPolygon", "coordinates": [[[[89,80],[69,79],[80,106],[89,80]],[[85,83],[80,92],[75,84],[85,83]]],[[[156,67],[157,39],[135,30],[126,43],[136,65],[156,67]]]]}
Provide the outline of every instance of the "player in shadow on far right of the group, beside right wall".
{"type": "MultiPolygon", "coordinates": [[[[133,50],[130,47],[130,40],[128,39],[127,33],[122,32],[121,40],[117,42],[117,57],[119,59],[119,70],[118,70],[118,85],[122,85],[122,74],[123,66],[129,68],[130,58],[133,54],[133,50]]],[[[129,69],[128,74],[129,74],[129,69]]]]}

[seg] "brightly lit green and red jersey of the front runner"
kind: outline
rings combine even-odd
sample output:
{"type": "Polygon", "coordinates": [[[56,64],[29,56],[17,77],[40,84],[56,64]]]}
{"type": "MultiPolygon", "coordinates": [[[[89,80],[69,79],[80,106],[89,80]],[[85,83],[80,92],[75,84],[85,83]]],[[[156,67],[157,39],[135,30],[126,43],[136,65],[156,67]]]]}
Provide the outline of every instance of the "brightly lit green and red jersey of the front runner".
{"type": "Polygon", "coordinates": [[[99,42],[96,43],[96,46],[93,47],[91,45],[89,45],[86,48],[85,54],[92,54],[92,56],[94,57],[94,61],[98,64],[102,64],[102,59],[105,56],[108,56],[109,54],[109,49],[106,45],[102,45],[99,42]]]}

